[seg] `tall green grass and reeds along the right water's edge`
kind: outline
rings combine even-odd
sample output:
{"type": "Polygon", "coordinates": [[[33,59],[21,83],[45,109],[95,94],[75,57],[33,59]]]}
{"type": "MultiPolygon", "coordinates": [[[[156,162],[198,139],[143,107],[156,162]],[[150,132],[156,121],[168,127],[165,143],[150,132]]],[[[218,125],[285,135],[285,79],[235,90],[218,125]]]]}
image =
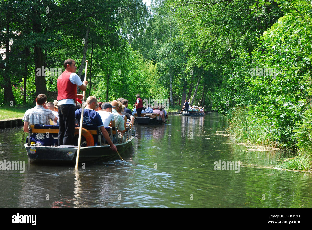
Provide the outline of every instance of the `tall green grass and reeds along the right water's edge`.
{"type": "MultiPolygon", "coordinates": [[[[229,122],[226,131],[230,133],[232,139],[236,142],[283,149],[283,143],[273,140],[269,126],[264,124],[258,125],[248,120],[245,108],[234,108],[220,115],[220,122],[229,122]]],[[[312,133],[310,132],[310,123],[310,121],[305,121],[303,122],[304,127],[296,130],[298,132],[298,143],[295,148],[289,149],[295,157],[283,159],[280,164],[275,166],[276,168],[312,170],[312,133]]]]}

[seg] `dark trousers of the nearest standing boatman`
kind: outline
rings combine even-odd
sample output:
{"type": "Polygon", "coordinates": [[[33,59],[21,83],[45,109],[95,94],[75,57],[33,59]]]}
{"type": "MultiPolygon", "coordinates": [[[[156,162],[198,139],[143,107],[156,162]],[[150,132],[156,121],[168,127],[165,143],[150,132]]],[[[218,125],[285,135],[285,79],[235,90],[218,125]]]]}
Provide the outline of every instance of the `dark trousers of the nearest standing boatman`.
{"type": "Polygon", "coordinates": [[[59,134],[57,145],[74,145],[75,134],[75,106],[59,105],[59,134]]]}

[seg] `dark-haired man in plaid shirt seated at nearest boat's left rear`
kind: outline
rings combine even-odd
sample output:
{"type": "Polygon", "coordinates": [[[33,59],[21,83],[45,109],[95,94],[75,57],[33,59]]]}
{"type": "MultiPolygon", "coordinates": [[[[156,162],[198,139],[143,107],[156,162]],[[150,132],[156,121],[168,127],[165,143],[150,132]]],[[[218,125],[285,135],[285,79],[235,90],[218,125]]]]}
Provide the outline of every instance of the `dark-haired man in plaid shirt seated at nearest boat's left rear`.
{"type": "Polygon", "coordinates": [[[24,132],[28,132],[28,125],[50,125],[50,119],[57,122],[57,117],[46,108],[46,95],[41,93],[36,98],[36,106],[28,109],[24,114],[24,132]]]}

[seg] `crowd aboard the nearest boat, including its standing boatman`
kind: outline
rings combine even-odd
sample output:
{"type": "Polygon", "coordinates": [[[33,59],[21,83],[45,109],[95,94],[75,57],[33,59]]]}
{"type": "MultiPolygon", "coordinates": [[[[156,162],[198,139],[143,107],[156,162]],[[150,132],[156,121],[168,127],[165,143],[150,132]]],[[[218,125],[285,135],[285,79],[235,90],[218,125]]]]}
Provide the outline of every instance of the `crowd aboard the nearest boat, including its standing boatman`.
{"type": "MultiPolygon", "coordinates": [[[[65,71],[57,79],[57,101],[47,102],[45,94],[39,94],[36,98],[36,106],[28,109],[24,114],[23,130],[28,132],[28,125],[58,125],[58,146],[75,145],[75,126],[80,124],[82,94],[77,94],[77,86],[85,91],[88,81],[81,81],[76,72],[76,62],[67,59],[64,62],[65,71]]],[[[119,98],[120,99],[120,98],[119,98]]],[[[123,99],[123,98],[122,98],[123,99]]],[[[105,140],[113,151],[117,151],[116,146],[110,139],[106,126],[116,127],[123,137],[126,131],[125,125],[127,119],[133,124],[134,117],[124,112],[128,106],[128,101],[114,100],[111,103],[98,103],[94,96],[89,96],[85,102],[83,110],[83,125],[99,126],[105,140]]],[[[130,111],[131,113],[131,111],[130,111]]]]}

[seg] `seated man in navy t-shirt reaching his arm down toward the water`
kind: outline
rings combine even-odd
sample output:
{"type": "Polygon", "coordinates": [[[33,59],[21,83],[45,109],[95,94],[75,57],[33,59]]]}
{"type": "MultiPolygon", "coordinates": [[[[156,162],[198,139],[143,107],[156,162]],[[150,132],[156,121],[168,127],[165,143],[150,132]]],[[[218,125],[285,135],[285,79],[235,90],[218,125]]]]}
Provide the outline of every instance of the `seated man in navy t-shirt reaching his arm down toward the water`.
{"type": "MultiPolygon", "coordinates": [[[[92,126],[100,126],[100,130],[105,138],[105,140],[108,142],[110,145],[110,148],[113,151],[117,151],[116,146],[113,144],[113,142],[110,140],[110,135],[104,128],[102,119],[100,117],[100,114],[97,113],[94,109],[95,107],[98,106],[97,104],[97,99],[94,96],[89,96],[86,101],[87,105],[83,109],[83,120],[82,124],[86,125],[92,125],[92,126]]],[[[81,118],[81,110],[82,109],[77,109],[75,112],[75,118],[78,121],[78,124],[80,124],[80,118],[81,118]]]]}

